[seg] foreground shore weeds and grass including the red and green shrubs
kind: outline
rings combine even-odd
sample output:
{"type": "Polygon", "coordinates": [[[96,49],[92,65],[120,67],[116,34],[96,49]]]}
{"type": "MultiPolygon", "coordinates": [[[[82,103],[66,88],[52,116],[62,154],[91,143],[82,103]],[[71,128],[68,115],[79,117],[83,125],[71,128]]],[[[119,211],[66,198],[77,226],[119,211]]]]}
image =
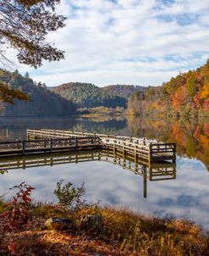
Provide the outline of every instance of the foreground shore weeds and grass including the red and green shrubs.
{"type": "Polygon", "coordinates": [[[208,233],[186,220],[163,220],[82,201],[84,186],[57,184],[58,204],[30,202],[21,183],[10,203],[0,200],[0,255],[209,255],[208,233]],[[102,217],[102,230],[82,230],[85,214],[102,217]],[[43,230],[50,217],[70,217],[68,231],[43,230]]]}

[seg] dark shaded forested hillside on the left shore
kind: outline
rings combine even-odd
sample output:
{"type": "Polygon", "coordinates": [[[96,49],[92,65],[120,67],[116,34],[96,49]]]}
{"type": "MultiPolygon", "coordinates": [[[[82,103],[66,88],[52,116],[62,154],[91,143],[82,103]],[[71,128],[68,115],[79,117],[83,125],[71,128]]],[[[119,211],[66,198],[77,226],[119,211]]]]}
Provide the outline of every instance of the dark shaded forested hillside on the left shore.
{"type": "Polygon", "coordinates": [[[2,116],[52,116],[74,113],[74,103],[47,90],[47,86],[32,81],[28,74],[20,75],[16,70],[8,72],[0,70],[0,81],[7,82],[9,87],[18,88],[29,94],[31,100],[23,102],[15,100],[14,105],[1,103],[2,116]]]}

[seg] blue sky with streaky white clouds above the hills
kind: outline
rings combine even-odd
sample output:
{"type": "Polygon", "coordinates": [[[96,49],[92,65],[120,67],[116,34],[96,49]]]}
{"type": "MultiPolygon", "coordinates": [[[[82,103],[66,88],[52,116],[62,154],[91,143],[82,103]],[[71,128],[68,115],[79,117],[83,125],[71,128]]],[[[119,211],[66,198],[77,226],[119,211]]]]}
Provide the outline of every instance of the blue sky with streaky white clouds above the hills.
{"type": "Polygon", "coordinates": [[[37,70],[17,65],[47,86],[157,86],[209,55],[209,0],[61,0],[56,12],[68,17],[66,26],[47,42],[65,59],[37,70]]]}

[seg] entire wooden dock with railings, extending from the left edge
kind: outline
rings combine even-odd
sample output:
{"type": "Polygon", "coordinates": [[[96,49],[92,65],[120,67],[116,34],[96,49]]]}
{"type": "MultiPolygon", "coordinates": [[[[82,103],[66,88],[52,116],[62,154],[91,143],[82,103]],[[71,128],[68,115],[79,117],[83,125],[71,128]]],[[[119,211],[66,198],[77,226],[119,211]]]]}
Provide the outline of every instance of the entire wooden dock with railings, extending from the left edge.
{"type": "Polygon", "coordinates": [[[27,130],[27,140],[0,142],[0,157],[37,153],[63,153],[107,149],[113,155],[146,163],[176,160],[175,143],[162,143],[132,136],[113,136],[76,131],[27,130]]]}

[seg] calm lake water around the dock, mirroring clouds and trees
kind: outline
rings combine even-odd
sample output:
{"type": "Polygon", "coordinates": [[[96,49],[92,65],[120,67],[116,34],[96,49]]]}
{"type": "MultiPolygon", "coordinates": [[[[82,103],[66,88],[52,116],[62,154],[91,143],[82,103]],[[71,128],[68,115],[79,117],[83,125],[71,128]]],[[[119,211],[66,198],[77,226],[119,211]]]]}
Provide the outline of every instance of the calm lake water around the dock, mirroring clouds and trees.
{"type": "Polygon", "coordinates": [[[84,181],[85,197],[91,202],[100,200],[102,204],[128,207],[143,214],[186,218],[209,229],[209,122],[194,125],[137,119],[1,119],[1,139],[23,139],[27,128],[94,131],[176,142],[176,179],[147,180],[145,198],[143,176],[103,160],[88,161],[9,170],[0,176],[0,195],[9,197],[8,188],[25,181],[36,186],[36,200],[54,202],[57,181],[71,181],[77,186],[84,181]]]}

